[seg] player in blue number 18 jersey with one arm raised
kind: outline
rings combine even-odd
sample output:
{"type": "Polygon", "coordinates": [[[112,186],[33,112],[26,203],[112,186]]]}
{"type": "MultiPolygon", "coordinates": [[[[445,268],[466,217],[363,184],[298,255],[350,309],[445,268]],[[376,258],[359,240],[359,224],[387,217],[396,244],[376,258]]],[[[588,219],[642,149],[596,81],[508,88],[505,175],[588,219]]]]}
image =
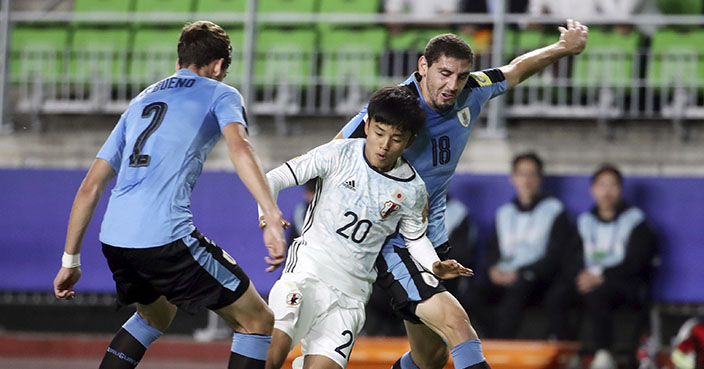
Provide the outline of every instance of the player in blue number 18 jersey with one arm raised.
{"type": "MultiPolygon", "coordinates": [[[[449,252],[450,247],[444,223],[447,189],[482,106],[560,58],[584,50],[586,26],[568,19],[559,31],[560,38],[552,45],[518,56],[508,65],[473,73],[469,45],[453,34],[438,35],[419,58],[418,71],[403,83],[419,96],[427,113],[426,125],[404,156],[428,189],[428,238],[439,255],[449,252]]],[[[363,137],[366,114],[366,109],[362,110],[337,137],[363,137]]],[[[489,367],[457,300],[442,285],[415,278],[418,270],[404,250],[402,239],[390,238],[377,265],[378,283],[389,291],[394,310],[405,319],[411,344],[411,351],[394,368],[442,368],[448,360],[448,346],[456,369],[489,367]]]]}

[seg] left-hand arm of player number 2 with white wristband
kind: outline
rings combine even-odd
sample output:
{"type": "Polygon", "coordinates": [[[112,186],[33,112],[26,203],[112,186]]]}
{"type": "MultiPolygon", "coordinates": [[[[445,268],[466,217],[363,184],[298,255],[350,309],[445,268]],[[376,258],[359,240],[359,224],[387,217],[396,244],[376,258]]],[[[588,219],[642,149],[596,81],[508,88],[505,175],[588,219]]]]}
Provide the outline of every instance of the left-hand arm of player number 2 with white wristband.
{"type": "Polygon", "coordinates": [[[61,269],[54,278],[54,295],[59,299],[72,299],[75,296],[73,286],[81,278],[80,254],[83,237],[88,224],[93,218],[95,207],[105,191],[115,171],[103,159],[95,159],[76,192],[71,208],[71,216],[66,231],[66,244],[61,269]]]}

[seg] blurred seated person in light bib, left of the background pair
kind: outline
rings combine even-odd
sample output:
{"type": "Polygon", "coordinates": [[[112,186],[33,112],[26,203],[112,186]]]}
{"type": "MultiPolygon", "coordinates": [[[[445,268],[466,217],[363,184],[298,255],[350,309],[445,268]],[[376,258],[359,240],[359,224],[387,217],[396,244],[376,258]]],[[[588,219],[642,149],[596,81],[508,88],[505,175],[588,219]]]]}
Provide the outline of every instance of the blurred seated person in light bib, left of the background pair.
{"type": "MultiPolygon", "coordinates": [[[[520,154],[512,168],[516,197],[496,211],[495,233],[485,252],[488,276],[474,284],[468,299],[477,329],[495,338],[514,338],[524,307],[539,296],[546,304],[553,298],[564,251],[574,242],[562,202],[541,192],[543,161],[532,152],[520,154]]],[[[550,319],[548,333],[555,330],[550,319]]]]}

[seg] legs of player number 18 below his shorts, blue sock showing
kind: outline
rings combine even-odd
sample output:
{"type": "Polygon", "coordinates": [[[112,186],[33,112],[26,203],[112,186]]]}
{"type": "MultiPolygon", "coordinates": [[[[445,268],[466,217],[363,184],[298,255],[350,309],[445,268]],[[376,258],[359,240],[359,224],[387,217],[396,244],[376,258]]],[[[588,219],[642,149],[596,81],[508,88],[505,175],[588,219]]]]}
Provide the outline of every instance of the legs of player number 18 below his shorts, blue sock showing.
{"type": "Polygon", "coordinates": [[[429,328],[422,330],[418,327],[412,327],[408,331],[411,342],[411,358],[418,367],[422,369],[442,368],[445,365],[447,348],[440,350],[437,347],[439,346],[437,336],[440,336],[451,347],[455,369],[489,368],[482,354],[477,333],[472,328],[467,313],[449,292],[441,292],[422,301],[416,307],[415,313],[429,328]],[[436,337],[432,337],[433,335],[436,337]],[[433,343],[434,349],[428,347],[428,343],[433,343]],[[419,351],[414,353],[416,349],[419,351]]]}

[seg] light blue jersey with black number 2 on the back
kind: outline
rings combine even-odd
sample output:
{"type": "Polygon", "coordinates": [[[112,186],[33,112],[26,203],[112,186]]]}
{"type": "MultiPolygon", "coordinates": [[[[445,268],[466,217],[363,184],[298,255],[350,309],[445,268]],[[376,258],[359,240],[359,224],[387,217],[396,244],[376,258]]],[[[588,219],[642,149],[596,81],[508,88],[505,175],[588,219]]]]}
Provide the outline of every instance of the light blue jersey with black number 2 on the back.
{"type": "Polygon", "coordinates": [[[190,234],[191,191],[232,122],[246,126],[240,93],[188,69],[135,97],[97,156],[117,173],[100,241],[147,248],[190,234]]]}

